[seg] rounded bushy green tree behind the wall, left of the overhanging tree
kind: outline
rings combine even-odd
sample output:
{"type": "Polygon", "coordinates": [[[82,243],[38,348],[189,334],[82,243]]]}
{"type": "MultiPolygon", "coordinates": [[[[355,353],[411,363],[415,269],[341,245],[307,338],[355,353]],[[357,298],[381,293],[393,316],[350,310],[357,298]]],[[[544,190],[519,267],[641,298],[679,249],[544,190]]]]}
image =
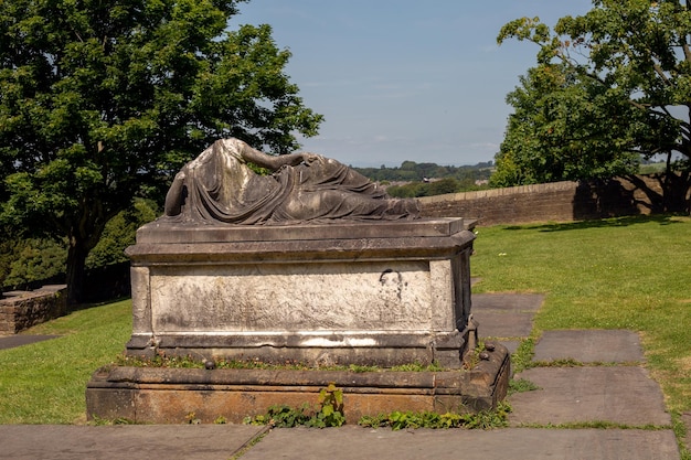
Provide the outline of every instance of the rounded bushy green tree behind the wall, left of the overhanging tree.
{"type": "Polygon", "coordinates": [[[514,108],[492,186],[608,179],[638,171],[632,140],[639,111],[568,66],[531,68],[507,97],[514,108]],[[625,121],[621,125],[621,121],[625,121]]]}

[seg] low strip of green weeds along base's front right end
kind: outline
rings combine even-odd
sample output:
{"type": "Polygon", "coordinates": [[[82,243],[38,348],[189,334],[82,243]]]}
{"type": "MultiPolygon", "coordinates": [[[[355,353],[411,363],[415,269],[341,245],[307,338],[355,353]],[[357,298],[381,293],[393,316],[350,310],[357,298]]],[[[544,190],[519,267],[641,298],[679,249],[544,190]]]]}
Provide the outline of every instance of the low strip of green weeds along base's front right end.
{"type": "Polygon", "coordinates": [[[477,414],[437,414],[432,411],[400,411],[380,414],[378,416],[364,416],[358,425],[362,427],[391,427],[393,430],[416,428],[467,428],[491,429],[506,427],[511,407],[507,403],[499,403],[496,410],[483,410],[477,414]]]}

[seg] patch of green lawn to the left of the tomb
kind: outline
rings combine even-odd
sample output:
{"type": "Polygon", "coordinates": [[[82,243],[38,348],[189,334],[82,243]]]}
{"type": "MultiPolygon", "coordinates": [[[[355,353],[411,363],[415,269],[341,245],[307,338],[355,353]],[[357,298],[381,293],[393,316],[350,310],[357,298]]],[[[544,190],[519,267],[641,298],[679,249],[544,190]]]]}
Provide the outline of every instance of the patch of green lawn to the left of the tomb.
{"type": "Polygon", "coordinates": [[[129,300],[94,307],[32,328],[59,339],[0,351],[0,424],[86,421],[86,383],[125,350],[129,300]]]}

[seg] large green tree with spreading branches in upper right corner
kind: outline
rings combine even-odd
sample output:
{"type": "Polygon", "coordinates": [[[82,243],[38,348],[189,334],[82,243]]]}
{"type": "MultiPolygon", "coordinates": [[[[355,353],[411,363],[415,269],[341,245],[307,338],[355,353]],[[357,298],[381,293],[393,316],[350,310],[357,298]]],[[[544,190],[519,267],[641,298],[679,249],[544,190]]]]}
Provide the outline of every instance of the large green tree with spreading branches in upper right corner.
{"type": "Polygon", "coordinates": [[[564,17],[553,30],[536,18],[514,20],[498,42],[510,38],[540,46],[534,72],[559,68],[571,78],[555,95],[568,108],[564,133],[582,151],[596,146],[615,161],[626,152],[678,152],[688,178],[691,1],[594,0],[586,14],[564,17]]]}

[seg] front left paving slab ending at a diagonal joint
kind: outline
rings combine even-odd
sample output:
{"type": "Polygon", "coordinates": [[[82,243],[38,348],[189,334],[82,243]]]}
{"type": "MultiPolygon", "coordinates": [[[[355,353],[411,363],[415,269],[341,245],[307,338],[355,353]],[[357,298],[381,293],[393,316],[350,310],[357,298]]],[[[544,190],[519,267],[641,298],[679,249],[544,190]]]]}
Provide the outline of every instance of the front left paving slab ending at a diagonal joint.
{"type": "Polygon", "coordinates": [[[0,459],[227,460],[263,429],[245,425],[3,425],[0,459]]]}

